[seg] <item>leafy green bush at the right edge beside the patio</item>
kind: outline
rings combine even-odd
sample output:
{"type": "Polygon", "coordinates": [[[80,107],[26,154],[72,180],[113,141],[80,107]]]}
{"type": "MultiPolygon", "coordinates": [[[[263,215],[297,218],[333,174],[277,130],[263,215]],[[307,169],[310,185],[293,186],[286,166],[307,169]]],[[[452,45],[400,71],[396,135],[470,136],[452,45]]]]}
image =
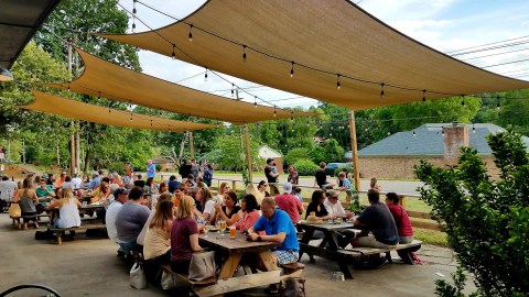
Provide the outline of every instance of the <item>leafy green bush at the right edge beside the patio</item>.
{"type": "MultiPolygon", "coordinates": [[[[471,147],[462,148],[457,167],[422,161],[415,174],[425,184],[422,199],[445,222],[449,244],[458,264],[474,275],[478,294],[523,296],[529,292],[529,156],[521,136],[511,131],[490,135],[488,144],[498,180],[471,147]]],[[[461,279],[454,283],[456,287],[438,284],[438,294],[462,296],[461,279]]]]}

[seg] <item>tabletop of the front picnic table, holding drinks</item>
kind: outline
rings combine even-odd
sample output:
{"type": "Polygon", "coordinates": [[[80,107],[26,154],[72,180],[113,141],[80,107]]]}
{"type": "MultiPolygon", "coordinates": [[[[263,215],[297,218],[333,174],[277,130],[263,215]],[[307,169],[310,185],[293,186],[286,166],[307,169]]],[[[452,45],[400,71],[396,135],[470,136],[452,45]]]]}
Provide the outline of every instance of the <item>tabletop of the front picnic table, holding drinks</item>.
{"type": "Polygon", "coordinates": [[[237,230],[236,238],[230,239],[229,234],[226,233],[226,238],[219,239],[219,232],[209,232],[207,238],[205,234],[199,234],[198,242],[203,245],[210,246],[214,249],[220,249],[227,252],[259,252],[268,249],[277,248],[281,244],[276,242],[255,242],[247,241],[246,235],[237,230]]]}

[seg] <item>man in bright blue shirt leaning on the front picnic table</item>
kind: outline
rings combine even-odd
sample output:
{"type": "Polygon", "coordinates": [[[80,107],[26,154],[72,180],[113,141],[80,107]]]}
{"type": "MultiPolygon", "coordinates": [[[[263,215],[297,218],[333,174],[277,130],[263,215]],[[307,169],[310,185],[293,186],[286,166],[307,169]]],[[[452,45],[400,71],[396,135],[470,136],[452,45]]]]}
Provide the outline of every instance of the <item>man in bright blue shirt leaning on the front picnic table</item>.
{"type": "Polygon", "coordinates": [[[261,212],[262,216],[248,230],[248,240],[280,243],[280,246],[271,250],[276,255],[274,263],[278,265],[298,262],[300,243],[289,215],[281,209],[276,209],[276,201],[271,197],[262,199],[261,212]],[[257,233],[259,231],[264,231],[266,235],[259,235],[257,233]]]}

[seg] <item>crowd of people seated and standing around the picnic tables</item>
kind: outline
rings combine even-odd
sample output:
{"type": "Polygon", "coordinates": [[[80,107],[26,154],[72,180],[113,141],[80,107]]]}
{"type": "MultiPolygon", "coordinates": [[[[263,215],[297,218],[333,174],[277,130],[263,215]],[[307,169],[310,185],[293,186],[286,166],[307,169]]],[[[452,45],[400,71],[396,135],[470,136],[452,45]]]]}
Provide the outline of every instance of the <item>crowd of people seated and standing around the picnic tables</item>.
{"type": "MultiPolygon", "coordinates": [[[[147,180],[141,174],[131,178],[116,173],[94,172],[91,178],[80,178],[62,173],[57,179],[53,175],[46,179],[30,176],[20,188],[11,191],[3,190],[8,184],[2,184],[0,191],[2,199],[4,193],[9,196],[13,193],[13,201],[19,202],[22,215],[36,213],[39,199],[51,197],[48,209],[58,210],[54,221],[58,228],[80,226],[78,209],[83,205],[77,197],[88,195],[91,204],[105,206],[97,216],[104,219],[110,240],[119,245],[118,253],[142,250],[147,261],[171,265],[177,273],[186,273],[192,254],[202,251],[198,234],[206,226],[218,222],[233,226],[248,240],[279,243],[279,248],[270,251],[278,265],[298,261],[300,245],[295,224],[302,213],[305,213],[305,219],[350,220],[355,224],[367,226],[373,233],[355,238],[353,232],[343,232],[338,239],[342,248],[347,244],[393,248],[413,240],[411,223],[399,204],[399,196],[388,193],[386,204],[381,202],[376,180],[367,194],[369,206],[355,217],[343,208],[338,199],[341,191],[352,190],[346,173],[339,173],[334,185],[326,182],[326,176],[324,179],[316,174],[315,183],[321,189],[312,193],[305,211],[301,189],[293,185],[299,182],[295,168],[289,167],[289,182],[282,185],[280,193],[277,188],[268,190],[271,183],[277,185],[279,173],[272,168],[273,162],[269,162],[267,167],[268,183],[261,180],[257,186],[249,185],[242,196],[238,196],[226,183],[219,185],[218,194],[214,196],[209,189],[210,169],[201,170],[195,161],[181,167],[180,178],[173,175],[160,183],[155,182],[155,166],[149,161],[147,180]],[[336,190],[330,190],[330,187],[336,190]]],[[[325,169],[325,164],[320,167],[325,169]]],[[[24,221],[23,228],[28,228],[28,221],[24,221]]]]}

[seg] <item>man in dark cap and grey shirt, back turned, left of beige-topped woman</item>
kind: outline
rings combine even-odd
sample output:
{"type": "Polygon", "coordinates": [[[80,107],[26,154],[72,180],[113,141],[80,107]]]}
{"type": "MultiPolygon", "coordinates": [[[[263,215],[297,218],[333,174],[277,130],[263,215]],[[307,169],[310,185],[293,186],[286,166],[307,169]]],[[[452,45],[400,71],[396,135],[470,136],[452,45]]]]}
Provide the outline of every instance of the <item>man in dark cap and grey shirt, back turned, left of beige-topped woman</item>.
{"type": "Polygon", "coordinates": [[[129,193],[129,201],[119,209],[116,217],[117,241],[126,253],[137,248],[138,235],[151,213],[143,200],[143,189],[133,187],[129,193]]]}

